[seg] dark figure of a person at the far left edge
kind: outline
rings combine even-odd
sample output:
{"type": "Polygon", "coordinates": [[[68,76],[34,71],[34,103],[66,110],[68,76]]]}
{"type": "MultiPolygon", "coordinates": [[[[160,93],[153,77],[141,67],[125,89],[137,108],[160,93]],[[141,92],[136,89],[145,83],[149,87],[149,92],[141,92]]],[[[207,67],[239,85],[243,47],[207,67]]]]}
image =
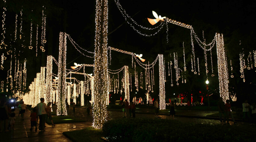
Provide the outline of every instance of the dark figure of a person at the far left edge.
{"type": "Polygon", "coordinates": [[[5,132],[9,131],[8,128],[8,108],[6,106],[5,98],[0,101],[0,132],[2,132],[2,128],[5,127],[5,132]],[[2,127],[2,122],[4,121],[4,127],[2,127]]]}

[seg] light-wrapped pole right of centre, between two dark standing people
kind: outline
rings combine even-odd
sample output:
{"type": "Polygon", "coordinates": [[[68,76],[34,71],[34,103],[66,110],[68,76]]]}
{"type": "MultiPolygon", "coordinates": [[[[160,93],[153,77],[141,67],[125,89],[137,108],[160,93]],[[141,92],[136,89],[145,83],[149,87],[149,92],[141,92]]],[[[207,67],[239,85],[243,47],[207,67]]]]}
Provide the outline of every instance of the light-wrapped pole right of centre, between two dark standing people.
{"type": "Polygon", "coordinates": [[[164,58],[163,54],[159,56],[159,106],[160,110],[165,109],[165,85],[164,85],[164,58]]]}

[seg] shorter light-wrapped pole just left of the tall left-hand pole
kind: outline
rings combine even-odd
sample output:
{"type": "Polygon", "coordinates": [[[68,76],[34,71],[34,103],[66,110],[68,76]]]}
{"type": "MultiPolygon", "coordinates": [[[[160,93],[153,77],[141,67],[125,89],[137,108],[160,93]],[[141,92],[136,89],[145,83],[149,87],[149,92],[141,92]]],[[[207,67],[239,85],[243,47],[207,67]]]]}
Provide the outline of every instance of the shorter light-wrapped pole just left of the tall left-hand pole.
{"type": "Polygon", "coordinates": [[[52,102],[52,56],[47,56],[45,101],[52,102]]]}

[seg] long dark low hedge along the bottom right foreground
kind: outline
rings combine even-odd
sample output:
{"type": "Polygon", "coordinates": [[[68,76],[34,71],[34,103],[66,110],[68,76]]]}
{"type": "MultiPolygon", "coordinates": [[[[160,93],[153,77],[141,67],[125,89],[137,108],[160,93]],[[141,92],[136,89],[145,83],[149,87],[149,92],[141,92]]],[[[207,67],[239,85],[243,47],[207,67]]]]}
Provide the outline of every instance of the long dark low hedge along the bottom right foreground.
{"type": "Polygon", "coordinates": [[[182,123],[170,119],[117,119],[103,125],[111,142],[256,141],[253,126],[182,123]]]}

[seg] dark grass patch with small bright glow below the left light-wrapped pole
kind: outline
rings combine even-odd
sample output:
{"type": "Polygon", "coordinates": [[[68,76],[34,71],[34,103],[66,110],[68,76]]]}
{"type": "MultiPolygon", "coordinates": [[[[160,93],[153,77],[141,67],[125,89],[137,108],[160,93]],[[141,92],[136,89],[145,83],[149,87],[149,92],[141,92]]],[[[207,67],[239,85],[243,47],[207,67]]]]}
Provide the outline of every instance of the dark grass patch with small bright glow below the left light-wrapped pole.
{"type": "MultiPolygon", "coordinates": [[[[52,120],[54,124],[61,124],[61,123],[74,123],[74,122],[86,122],[83,119],[79,119],[73,116],[52,116],[52,120]]],[[[47,124],[52,124],[49,119],[46,121],[47,124]]]]}

